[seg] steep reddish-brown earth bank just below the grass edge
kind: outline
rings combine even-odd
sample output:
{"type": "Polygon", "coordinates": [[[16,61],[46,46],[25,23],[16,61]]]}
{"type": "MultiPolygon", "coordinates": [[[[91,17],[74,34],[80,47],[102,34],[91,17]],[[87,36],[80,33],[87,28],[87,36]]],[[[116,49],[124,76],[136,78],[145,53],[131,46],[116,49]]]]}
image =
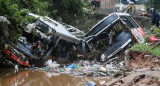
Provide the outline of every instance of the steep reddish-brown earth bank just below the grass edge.
{"type": "Polygon", "coordinates": [[[160,58],[148,53],[132,52],[130,66],[132,69],[160,67],[160,58]]]}

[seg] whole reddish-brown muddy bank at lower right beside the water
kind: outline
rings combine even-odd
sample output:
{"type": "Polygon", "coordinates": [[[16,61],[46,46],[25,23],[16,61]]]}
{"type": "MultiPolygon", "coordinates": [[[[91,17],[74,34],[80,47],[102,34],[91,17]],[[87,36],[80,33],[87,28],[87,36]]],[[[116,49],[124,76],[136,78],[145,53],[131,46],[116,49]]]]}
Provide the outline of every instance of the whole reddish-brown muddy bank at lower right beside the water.
{"type": "Polygon", "coordinates": [[[160,58],[132,52],[126,76],[113,78],[106,86],[160,86],[160,58]]]}

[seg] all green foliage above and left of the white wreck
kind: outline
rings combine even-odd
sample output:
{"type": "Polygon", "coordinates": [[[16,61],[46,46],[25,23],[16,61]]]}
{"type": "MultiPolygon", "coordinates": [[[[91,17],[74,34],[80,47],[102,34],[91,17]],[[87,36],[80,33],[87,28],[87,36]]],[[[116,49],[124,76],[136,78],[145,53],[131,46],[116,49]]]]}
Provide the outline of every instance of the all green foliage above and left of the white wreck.
{"type": "Polygon", "coordinates": [[[62,18],[63,22],[71,23],[77,19],[82,20],[84,16],[83,7],[87,8],[87,5],[87,3],[83,4],[81,0],[0,0],[0,15],[5,16],[11,22],[10,31],[12,35],[9,40],[16,41],[21,35],[20,26],[26,27],[23,25],[24,22],[36,20],[30,16],[25,16],[29,12],[49,15],[54,19],[62,18]]]}

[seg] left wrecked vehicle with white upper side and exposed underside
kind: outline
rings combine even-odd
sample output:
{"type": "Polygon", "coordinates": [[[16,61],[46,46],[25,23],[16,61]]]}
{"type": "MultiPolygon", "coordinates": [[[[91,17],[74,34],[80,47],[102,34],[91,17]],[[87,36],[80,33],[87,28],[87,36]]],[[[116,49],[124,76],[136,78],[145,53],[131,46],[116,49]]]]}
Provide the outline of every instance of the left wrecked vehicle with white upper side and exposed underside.
{"type": "Polygon", "coordinates": [[[15,49],[7,50],[8,55],[14,55],[13,60],[18,63],[22,62],[20,65],[37,64],[50,54],[55,57],[66,58],[67,54],[73,51],[71,49],[76,51],[76,45],[80,44],[85,35],[77,28],[59,23],[47,16],[33,13],[29,13],[28,16],[37,19],[33,23],[25,22],[21,26],[23,35],[19,37],[15,49]]]}

